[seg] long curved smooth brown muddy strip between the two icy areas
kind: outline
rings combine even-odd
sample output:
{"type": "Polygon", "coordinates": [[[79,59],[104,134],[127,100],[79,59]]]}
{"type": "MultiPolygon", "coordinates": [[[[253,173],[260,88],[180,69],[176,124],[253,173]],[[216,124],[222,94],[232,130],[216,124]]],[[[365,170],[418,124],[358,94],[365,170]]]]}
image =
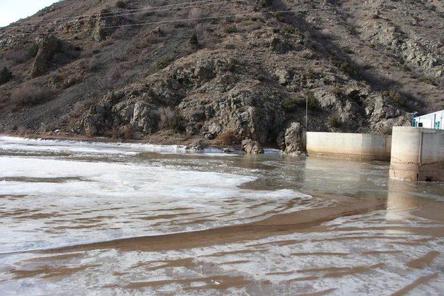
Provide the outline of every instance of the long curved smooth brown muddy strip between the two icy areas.
{"type": "MultiPolygon", "coordinates": [[[[207,247],[221,243],[234,243],[238,241],[251,241],[253,239],[266,238],[276,234],[294,233],[298,231],[319,232],[322,231],[322,223],[339,217],[366,214],[369,211],[384,209],[384,200],[368,199],[359,201],[336,197],[339,205],[317,209],[308,209],[289,214],[278,214],[259,220],[257,222],[232,225],[215,229],[207,229],[198,232],[182,232],[178,234],[165,234],[160,236],[142,236],[137,238],[125,238],[103,243],[75,245],[61,247],[44,252],[76,252],[79,250],[140,250],[162,251],[180,250],[193,247],[207,247]]],[[[345,238],[341,238],[345,239],[345,238]]]]}

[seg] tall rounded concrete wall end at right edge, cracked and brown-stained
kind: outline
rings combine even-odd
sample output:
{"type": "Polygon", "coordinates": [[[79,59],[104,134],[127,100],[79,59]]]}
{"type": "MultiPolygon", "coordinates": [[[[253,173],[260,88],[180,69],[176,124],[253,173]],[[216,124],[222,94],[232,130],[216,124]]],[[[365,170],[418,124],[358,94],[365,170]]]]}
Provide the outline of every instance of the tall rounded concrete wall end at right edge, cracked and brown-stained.
{"type": "Polygon", "coordinates": [[[444,181],[444,130],[395,127],[390,177],[444,181]]]}

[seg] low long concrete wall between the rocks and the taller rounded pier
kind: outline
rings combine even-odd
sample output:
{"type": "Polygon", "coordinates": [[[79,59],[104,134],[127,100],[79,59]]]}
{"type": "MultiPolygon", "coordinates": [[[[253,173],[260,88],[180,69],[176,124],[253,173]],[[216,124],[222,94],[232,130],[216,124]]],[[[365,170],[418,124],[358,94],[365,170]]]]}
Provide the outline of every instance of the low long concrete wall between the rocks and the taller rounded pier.
{"type": "Polygon", "coordinates": [[[390,160],[391,136],[307,132],[307,153],[325,157],[390,160]]]}

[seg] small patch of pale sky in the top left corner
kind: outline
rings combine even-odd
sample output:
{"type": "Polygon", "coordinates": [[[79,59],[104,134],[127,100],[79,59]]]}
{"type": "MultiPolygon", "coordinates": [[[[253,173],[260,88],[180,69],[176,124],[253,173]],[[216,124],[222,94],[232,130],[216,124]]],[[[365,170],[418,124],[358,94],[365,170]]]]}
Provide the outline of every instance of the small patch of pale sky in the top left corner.
{"type": "Polygon", "coordinates": [[[60,0],[0,0],[0,26],[29,17],[60,0]]]}

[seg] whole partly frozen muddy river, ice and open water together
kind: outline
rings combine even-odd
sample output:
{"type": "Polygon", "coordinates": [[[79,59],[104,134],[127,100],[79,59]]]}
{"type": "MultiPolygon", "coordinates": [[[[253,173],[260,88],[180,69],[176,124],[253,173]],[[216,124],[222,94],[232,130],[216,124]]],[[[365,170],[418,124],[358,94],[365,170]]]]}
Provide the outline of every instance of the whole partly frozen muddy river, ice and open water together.
{"type": "Polygon", "coordinates": [[[0,137],[0,295],[443,295],[443,210],[386,162],[0,137]]]}

